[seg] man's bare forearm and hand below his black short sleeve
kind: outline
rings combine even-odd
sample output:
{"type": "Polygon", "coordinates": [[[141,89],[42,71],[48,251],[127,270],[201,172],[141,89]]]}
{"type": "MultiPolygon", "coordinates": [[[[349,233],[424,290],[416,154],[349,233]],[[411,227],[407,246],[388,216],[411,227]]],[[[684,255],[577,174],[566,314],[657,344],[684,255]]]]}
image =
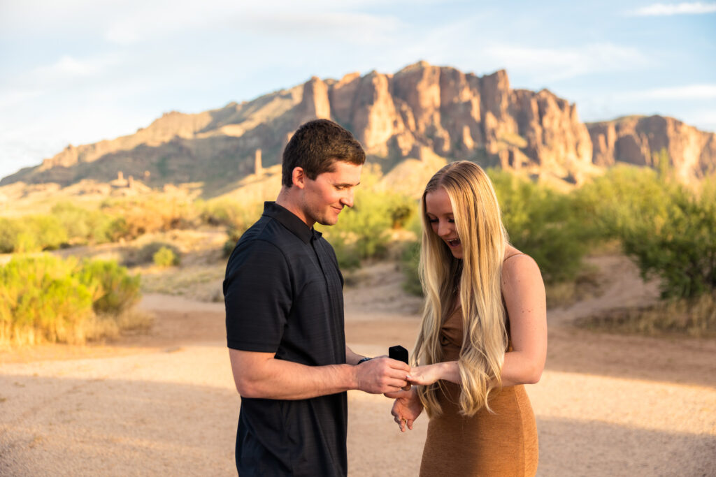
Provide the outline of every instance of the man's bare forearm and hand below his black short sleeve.
{"type": "Polygon", "coordinates": [[[308,399],[350,389],[390,393],[407,385],[405,376],[410,371],[405,363],[390,358],[357,366],[306,366],[278,360],[274,353],[234,349],[229,350],[229,358],[236,390],[243,398],[308,399]]]}

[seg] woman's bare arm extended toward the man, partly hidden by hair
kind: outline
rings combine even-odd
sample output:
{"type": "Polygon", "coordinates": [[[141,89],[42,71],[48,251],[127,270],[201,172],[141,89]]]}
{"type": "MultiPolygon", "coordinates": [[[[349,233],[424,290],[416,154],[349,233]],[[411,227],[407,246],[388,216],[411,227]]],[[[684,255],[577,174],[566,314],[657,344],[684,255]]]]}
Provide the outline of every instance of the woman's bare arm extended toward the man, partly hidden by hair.
{"type": "MultiPolygon", "coordinates": [[[[531,257],[520,255],[503,265],[502,292],[510,317],[511,352],[505,353],[502,385],[538,382],[547,357],[547,310],[544,283],[531,257]]],[[[417,366],[407,379],[429,385],[437,380],[461,383],[457,361],[417,366]]]]}

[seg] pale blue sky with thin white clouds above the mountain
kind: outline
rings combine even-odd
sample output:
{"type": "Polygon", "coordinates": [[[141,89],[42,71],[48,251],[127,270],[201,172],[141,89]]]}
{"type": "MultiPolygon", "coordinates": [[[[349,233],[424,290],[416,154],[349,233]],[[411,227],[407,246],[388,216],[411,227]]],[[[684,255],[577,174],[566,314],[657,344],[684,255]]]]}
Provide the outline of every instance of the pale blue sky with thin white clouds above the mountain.
{"type": "Polygon", "coordinates": [[[716,1],[0,0],[0,177],[164,112],[420,60],[506,69],[582,121],[716,132],[716,1]]]}

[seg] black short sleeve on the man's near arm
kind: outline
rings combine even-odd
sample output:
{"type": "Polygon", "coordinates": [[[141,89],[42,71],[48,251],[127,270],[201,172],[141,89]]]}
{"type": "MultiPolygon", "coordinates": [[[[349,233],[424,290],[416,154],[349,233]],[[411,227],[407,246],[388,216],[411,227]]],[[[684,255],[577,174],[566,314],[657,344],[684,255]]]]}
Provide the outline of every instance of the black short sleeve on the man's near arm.
{"type": "Polygon", "coordinates": [[[291,311],[291,273],[283,252],[263,240],[238,245],[223,283],[229,348],[275,353],[291,311]]]}

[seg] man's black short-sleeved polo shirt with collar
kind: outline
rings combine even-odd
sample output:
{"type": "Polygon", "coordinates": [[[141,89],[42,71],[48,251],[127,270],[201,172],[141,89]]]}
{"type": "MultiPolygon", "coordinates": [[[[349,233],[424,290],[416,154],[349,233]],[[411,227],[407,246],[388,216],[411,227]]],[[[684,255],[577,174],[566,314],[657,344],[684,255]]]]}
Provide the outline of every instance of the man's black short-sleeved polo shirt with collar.
{"type": "MultiPolygon", "coordinates": [[[[226,266],[226,338],[236,350],[309,366],[343,364],[343,277],[331,245],[266,202],[226,266]]],[[[236,467],[247,476],[347,475],[347,394],[241,398],[236,467]]]]}

